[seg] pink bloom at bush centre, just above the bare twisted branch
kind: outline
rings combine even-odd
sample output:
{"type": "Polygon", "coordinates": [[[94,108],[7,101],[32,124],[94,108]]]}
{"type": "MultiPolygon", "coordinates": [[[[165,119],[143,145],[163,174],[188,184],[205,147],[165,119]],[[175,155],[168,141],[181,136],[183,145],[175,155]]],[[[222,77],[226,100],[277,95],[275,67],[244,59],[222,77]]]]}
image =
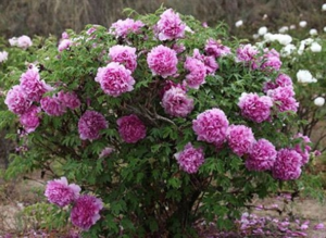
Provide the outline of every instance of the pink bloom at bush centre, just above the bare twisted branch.
{"type": "Polygon", "coordinates": [[[162,107],[172,116],[187,116],[193,109],[193,100],[179,87],[172,87],[165,91],[162,107]]]}

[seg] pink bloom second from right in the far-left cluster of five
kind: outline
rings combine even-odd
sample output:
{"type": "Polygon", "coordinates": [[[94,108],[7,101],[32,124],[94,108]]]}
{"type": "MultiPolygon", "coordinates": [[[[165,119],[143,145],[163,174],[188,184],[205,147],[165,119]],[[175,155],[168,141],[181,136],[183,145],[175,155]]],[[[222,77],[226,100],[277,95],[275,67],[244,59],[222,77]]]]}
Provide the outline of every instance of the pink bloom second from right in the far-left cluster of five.
{"type": "Polygon", "coordinates": [[[66,111],[65,105],[58,99],[58,97],[45,97],[40,100],[41,109],[51,116],[63,115],[66,111]]]}

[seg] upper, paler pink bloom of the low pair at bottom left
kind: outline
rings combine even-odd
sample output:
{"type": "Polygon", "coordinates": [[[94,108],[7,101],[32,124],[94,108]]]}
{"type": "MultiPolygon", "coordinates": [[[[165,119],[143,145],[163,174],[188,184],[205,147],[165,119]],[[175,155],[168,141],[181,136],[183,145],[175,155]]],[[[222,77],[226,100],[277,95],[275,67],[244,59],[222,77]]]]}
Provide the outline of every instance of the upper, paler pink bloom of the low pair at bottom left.
{"type": "Polygon", "coordinates": [[[80,190],[78,185],[68,185],[66,177],[61,177],[60,179],[48,181],[45,196],[49,202],[63,208],[74,202],[78,198],[80,190]]]}

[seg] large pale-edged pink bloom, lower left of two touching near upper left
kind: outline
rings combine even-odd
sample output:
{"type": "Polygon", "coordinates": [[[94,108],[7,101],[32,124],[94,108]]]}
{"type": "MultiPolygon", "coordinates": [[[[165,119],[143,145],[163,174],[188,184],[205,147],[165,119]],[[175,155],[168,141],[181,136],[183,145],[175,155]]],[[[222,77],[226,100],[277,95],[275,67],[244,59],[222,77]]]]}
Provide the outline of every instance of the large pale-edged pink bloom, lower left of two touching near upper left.
{"type": "Polygon", "coordinates": [[[131,72],[124,65],[111,62],[105,67],[99,67],[95,78],[106,95],[118,97],[124,92],[134,90],[135,79],[131,72]]]}

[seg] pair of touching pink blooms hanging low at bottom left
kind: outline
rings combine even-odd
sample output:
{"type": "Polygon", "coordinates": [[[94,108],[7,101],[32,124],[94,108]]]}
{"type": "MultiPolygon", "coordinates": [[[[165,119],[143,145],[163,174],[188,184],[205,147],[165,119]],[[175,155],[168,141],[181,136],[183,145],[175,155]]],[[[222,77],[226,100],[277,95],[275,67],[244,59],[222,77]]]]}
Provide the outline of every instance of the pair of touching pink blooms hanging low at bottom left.
{"type": "Polygon", "coordinates": [[[101,199],[90,195],[79,195],[80,187],[75,184],[67,183],[65,177],[48,181],[45,196],[49,202],[61,208],[73,204],[71,211],[72,223],[88,230],[100,220],[100,211],[103,209],[101,199]]]}

